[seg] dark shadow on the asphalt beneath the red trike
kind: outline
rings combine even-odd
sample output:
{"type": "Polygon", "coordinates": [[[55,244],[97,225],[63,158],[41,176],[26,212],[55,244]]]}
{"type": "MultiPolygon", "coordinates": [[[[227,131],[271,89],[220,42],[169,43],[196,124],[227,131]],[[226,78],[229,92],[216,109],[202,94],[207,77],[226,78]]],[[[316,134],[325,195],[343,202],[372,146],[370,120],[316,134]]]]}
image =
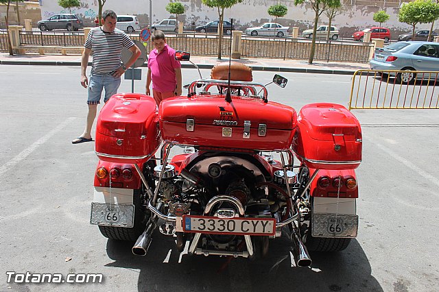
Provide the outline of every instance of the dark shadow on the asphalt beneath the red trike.
{"type": "Polygon", "coordinates": [[[185,254],[180,260],[174,239],[155,232],[145,257],[132,255],[132,243],[109,240],[114,261],[106,266],[139,269],[138,291],[383,291],[356,240],[343,252],[311,254],[311,268],[292,267],[290,246],[283,236],[270,241],[264,259],[185,254]]]}

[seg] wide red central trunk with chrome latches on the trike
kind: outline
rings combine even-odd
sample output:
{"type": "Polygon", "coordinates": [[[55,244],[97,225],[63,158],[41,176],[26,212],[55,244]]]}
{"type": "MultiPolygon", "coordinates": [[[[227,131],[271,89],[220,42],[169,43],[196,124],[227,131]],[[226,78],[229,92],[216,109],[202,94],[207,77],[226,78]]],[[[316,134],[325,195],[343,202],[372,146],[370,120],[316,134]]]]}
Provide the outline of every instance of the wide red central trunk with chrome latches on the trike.
{"type": "Polygon", "coordinates": [[[165,141],[230,149],[288,149],[297,121],[296,111],[289,106],[248,97],[233,97],[228,103],[224,95],[165,99],[158,112],[165,141]],[[195,121],[193,132],[187,131],[187,119],[195,121]],[[214,125],[214,120],[227,124],[214,125]],[[244,121],[251,123],[250,138],[243,138],[244,121]],[[259,136],[261,124],[267,127],[265,136],[259,136]],[[223,128],[231,128],[231,136],[223,136],[223,128]]]}

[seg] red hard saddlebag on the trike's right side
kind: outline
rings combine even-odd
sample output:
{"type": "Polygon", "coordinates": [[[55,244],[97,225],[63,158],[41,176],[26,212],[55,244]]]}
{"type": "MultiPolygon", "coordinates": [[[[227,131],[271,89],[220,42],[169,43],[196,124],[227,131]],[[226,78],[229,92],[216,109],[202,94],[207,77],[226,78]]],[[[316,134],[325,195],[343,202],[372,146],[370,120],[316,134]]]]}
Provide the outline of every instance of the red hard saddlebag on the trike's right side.
{"type": "Polygon", "coordinates": [[[339,104],[308,104],[298,115],[293,149],[315,169],[356,169],[361,162],[361,127],[339,104]]]}

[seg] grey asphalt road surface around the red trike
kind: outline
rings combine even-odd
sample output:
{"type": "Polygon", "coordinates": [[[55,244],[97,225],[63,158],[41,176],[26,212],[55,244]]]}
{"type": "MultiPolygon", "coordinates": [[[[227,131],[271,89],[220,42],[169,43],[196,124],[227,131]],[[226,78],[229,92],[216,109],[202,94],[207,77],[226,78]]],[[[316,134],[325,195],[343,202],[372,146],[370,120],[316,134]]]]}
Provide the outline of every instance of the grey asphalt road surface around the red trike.
{"type": "MultiPolygon", "coordinates": [[[[145,69],[142,69],[145,73],[145,69]]],[[[202,70],[204,77],[208,70],[202,70]]],[[[348,102],[351,77],[283,73],[269,99],[348,102]]],[[[437,291],[439,112],[355,110],[364,134],[359,235],[344,251],[292,267],[287,239],[265,260],[187,256],[158,232],[145,257],[88,223],[93,143],[72,145],[86,117],[80,67],[0,66],[0,291],[437,291]],[[16,284],[6,272],[102,273],[102,284],[16,284]]],[[[268,83],[273,73],[254,72],[268,83]]],[[[183,83],[197,77],[183,70],[183,83]]],[[[145,80],[135,82],[142,92],[145,80]]],[[[123,81],[120,91],[129,92],[123,81]]]]}

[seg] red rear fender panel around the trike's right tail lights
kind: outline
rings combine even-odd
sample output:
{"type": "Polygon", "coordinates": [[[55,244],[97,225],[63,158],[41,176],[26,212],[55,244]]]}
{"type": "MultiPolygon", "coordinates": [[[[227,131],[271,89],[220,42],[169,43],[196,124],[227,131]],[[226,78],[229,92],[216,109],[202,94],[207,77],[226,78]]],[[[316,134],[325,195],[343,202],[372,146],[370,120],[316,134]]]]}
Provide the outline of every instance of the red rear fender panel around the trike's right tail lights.
{"type": "MultiPolygon", "coordinates": [[[[312,175],[316,171],[316,169],[309,169],[309,175],[312,175]]],[[[316,178],[311,182],[311,185],[309,186],[310,194],[312,197],[337,197],[338,194],[338,188],[331,186],[328,186],[327,188],[321,188],[318,185],[319,178],[322,178],[322,176],[327,176],[331,178],[339,178],[340,175],[342,176],[343,182],[346,180],[346,178],[355,178],[357,180],[357,175],[355,175],[354,169],[344,169],[344,170],[329,170],[329,169],[320,169],[318,172],[316,178]]],[[[358,197],[358,182],[357,186],[352,189],[346,188],[346,185],[340,186],[340,197],[348,197],[348,198],[357,198],[358,197]]]]}

